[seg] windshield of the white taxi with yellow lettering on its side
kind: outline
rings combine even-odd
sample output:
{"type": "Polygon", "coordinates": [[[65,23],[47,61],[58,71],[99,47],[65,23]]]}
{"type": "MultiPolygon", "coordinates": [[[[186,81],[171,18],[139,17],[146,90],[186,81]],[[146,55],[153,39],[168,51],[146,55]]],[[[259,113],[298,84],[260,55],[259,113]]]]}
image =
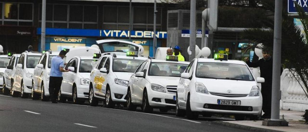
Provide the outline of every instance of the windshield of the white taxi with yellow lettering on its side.
{"type": "Polygon", "coordinates": [[[135,72],[144,60],[137,59],[114,59],[113,72],[135,72]]]}

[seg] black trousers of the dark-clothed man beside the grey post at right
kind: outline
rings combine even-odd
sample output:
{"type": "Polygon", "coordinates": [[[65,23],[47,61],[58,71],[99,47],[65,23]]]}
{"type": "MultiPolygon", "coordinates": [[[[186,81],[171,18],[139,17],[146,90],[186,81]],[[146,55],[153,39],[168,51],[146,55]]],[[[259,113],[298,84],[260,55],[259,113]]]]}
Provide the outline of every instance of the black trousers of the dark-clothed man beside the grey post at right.
{"type": "Polygon", "coordinates": [[[261,94],[262,94],[262,110],[265,115],[271,115],[272,106],[272,85],[271,84],[261,84],[261,94]]]}

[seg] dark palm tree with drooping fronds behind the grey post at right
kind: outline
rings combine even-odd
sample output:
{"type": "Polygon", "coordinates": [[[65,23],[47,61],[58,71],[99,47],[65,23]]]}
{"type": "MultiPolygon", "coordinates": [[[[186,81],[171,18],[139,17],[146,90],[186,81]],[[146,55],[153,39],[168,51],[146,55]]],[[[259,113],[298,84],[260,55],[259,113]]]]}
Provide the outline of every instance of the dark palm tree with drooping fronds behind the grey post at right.
{"type": "MultiPolygon", "coordinates": [[[[264,6],[274,7],[274,2],[271,2],[271,0],[265,0],[263,2],[264,6]]],[[[294,18],[290,16],[286,8],[284,8],[282,13],[281,57],[284,68],[288,68],[294,77],[295,74],[299,76],[300,80],[297,81],[299,84],[303,84],[301,87],[305,92],[306,97],[308,97],[308,43],[306,40],[306,38],[308,38],[308,16],[304,10],[297,5],[297,3],[295,3],[295,5],[303,25],[304,34],[302,34],[299,27],[294,24],[294,18]],[[300,81],[302,81],[302,83],[300,81]]],[[[274,8],[269,9],[272,9],[274,12],[274,8]]],[[[269,30],[252,28],[245,30],[242,34],[242,38],[249,39],[254,43],[262,43],[263,46],[250,46],[246,50],[250,48],[260,48],[262,51],[273,51],[274,19],[269,18],[263,20],[263,23],[269,27],[269,30]]]]}

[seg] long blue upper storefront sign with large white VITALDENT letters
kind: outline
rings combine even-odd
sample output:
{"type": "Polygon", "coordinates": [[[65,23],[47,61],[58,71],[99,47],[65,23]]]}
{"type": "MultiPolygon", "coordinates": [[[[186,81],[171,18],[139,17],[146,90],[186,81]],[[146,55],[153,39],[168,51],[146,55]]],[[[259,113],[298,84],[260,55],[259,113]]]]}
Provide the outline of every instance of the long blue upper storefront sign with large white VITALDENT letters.
{"type": "MultiPolygon", "coordinates": [[[[37,28],[37,34],[41,35],[41,28],[37,28]]],[[[153,38],[153,31],[132,31],[128,30],[99,30],[99,29],[62,29],[62,28],[46,28],[46,35],[59,36],[91,36],[91,37],[116,37],[116,38],[153,38]]],[[[158,39],[166,39],[167,32],[157,31],[158,39]]]]}

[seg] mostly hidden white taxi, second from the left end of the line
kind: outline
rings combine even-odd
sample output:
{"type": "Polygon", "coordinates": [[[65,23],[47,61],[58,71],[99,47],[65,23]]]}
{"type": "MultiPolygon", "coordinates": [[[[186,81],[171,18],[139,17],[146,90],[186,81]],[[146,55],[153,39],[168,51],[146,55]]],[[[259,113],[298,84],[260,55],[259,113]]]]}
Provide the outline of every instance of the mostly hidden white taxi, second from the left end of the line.
{"type": "Polygon", "coordinates": [[[19,57],[20,54],[12,55],[9,64],[7,64],[7,67],[4,70],[2,93],[5,95],[10,94],[10,90],[12,88],[14,80],[13,77],[15,76],[16,64],[18,63],[19,57]]]}

